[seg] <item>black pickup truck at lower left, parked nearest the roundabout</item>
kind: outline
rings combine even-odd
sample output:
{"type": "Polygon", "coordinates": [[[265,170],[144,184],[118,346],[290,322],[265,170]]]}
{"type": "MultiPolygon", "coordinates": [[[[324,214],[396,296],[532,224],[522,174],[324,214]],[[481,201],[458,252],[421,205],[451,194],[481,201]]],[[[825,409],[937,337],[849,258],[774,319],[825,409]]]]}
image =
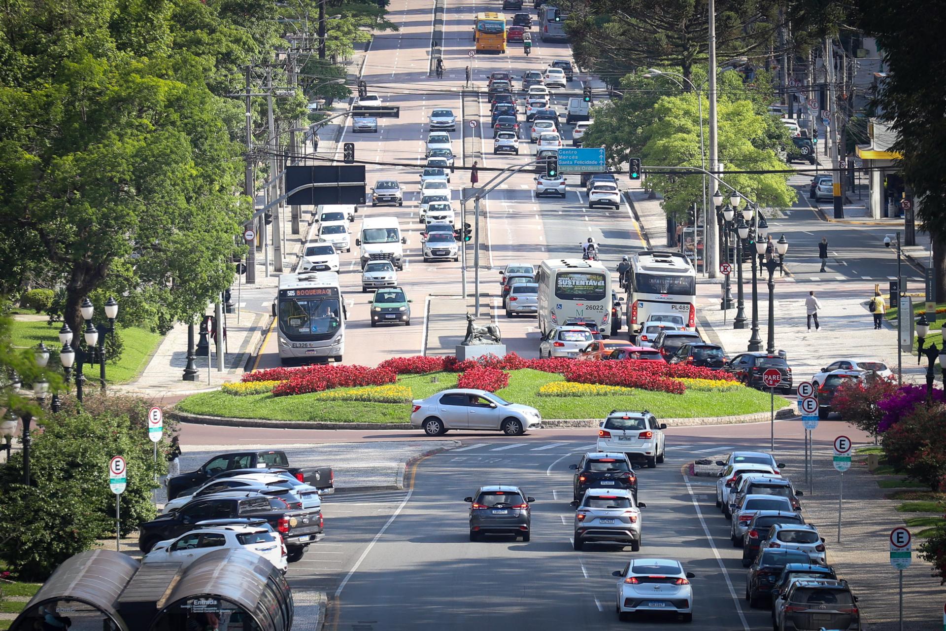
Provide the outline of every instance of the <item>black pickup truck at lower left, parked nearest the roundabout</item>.
{"type": "Polygon", "coordinates": [[[306,482],[319,489],[320,495],[327,495],[335,491],[335,476],[332,473],[332,467],[310,466],[298,468],[289,466],[289,458],[286,457],[285,451],[271,449],[267,451],[235,451],[214,456],[196,471],[169,478],[167,480],[167,499],[173,500],[183,495],[184,491],[200,486],[203,482],[207,482],[225,471],[267,468],[289,471],[296,477],[296,480],[306,482]]]}

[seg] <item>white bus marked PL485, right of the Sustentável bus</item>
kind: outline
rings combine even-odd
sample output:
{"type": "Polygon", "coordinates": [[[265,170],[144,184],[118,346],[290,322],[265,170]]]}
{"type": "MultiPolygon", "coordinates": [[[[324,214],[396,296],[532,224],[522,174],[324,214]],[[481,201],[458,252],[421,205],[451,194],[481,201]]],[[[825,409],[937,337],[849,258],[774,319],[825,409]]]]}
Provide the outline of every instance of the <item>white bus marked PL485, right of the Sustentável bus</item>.
{"type": "Polygon", "coordinates": [[[696,272],[679,252],[644,250],[631,258],[627,289],[627,328],[633,339],[654,313],[677,313],[684,326],[696,326],[696,272]]]}

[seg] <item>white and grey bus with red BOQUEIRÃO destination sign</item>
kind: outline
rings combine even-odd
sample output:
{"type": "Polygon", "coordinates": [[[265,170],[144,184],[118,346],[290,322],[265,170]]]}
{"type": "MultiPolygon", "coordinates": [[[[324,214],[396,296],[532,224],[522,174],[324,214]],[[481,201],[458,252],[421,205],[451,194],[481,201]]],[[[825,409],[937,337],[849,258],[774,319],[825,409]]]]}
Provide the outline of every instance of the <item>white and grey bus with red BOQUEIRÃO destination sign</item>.
{"type": "Polygon", "coordinates": [[[284,273],[272,306],[279,359],[335,359],[345,350],[345,307],[335,272],[284,273]]]}

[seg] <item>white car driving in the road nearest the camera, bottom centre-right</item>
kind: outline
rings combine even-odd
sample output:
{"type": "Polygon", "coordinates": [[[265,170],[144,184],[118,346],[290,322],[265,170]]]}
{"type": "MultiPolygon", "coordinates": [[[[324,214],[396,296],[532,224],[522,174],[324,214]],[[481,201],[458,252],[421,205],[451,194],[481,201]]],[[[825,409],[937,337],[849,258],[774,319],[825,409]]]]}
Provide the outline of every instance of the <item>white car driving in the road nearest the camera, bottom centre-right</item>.
{"type": "Polygon", "coordinates": [[[675,611],[683,622],[693,620],[695,574],[684,571],[672,559],[634,559],[623,570],[613,572],[618,581],[618,619],[626,621],[633,613],[675,611]]]}

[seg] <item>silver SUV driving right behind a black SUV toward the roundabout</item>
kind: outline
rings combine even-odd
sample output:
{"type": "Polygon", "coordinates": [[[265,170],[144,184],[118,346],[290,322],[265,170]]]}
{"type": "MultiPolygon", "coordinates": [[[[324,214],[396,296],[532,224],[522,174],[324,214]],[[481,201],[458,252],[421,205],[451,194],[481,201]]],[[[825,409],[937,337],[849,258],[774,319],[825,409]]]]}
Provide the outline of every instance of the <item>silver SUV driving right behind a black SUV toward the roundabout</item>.
{"type": "Polygon", "coordinates": [[[634,493],[619,488],[590,488],[581,501],[571,502],[575,511],[574,549],[586,542],[610,541],[630,544],[633,552],[640,550],[640,511],[647,504],[634,500],[634,493]]]}

